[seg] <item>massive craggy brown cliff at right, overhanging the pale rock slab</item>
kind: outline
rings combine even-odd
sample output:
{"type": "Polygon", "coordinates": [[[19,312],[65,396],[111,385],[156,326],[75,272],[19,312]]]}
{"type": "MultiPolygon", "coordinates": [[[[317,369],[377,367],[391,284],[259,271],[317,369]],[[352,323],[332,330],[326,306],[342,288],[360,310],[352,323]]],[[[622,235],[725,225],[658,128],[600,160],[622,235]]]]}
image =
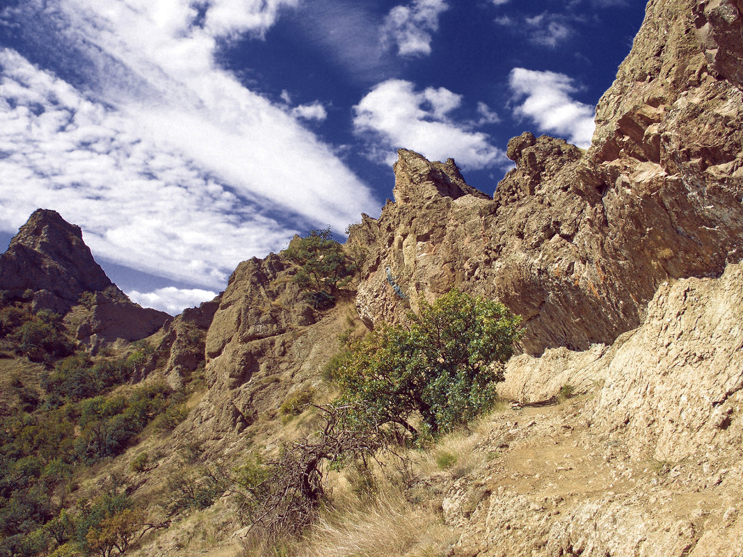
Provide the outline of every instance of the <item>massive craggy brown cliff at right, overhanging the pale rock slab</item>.
{"type": "Polygon", "coordinates": [[[585,349],[637,327],[663,281],[740,261],[743,94],[727,62],[743,48],[736,5],[651,1],[588,153],[514,138],[516,169],[493,201],[461,186],[452,161],[400,151],[396,203],[349,238],[370,246],[360,315],[398,319],[456,285],[522,314],[524,351],[585,349]]]}

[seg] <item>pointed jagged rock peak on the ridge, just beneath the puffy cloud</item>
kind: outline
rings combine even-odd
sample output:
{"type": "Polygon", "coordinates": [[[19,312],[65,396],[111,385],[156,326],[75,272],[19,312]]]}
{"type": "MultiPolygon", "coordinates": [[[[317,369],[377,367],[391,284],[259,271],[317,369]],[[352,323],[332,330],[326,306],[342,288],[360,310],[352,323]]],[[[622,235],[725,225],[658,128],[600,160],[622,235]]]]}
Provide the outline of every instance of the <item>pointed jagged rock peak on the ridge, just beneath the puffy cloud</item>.
{"type": "Polygon", "coordinates": [[[398,162],[392,168],[395,171],[395,201],[398,203],[415,203],[435,198],[461,198],[463,195],[474,195],[490,199],[480,190],[464,181],[454,159],[446,163],[431,162],[422,154],[408,149],[398,150],[398,162]]]}

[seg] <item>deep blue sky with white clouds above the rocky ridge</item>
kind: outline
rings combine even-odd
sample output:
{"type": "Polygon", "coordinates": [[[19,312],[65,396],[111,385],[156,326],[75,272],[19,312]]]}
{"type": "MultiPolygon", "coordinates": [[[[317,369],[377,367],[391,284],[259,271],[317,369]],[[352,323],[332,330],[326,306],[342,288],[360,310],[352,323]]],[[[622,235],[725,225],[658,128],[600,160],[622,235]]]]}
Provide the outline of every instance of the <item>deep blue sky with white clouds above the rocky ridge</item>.
{"type": "Polygon", "coordinates": [[[492,194],[531,131],[590,144],[640,0],[0,0],[0,244],[78,224],[179,313],[392,198],[396,149],[492,194]]]}

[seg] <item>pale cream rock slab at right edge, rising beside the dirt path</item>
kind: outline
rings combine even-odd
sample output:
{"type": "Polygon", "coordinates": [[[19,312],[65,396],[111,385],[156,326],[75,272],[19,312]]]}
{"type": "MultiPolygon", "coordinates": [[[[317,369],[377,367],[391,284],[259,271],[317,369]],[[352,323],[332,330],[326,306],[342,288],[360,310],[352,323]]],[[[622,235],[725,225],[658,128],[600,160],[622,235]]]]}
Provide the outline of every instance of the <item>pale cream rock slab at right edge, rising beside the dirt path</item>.
{"type": "Polygon", "coordinates": [[[589,419],[621,431],[633,457],[680,461],[739,443],[743,267],[658,289],[643,325],[606,361],[589,419]]]}

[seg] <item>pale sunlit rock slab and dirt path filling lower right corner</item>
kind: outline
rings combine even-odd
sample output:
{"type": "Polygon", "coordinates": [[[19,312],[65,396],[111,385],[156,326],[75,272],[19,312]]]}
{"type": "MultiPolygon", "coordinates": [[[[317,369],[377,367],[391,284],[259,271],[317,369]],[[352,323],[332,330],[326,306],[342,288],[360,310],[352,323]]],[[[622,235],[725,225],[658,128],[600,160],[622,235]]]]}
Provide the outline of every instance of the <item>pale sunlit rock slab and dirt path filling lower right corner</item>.
{"type": "Polygon", "coordinates": [[[740,555],[742,323],[743,264],[731,264],[663,284],[610,348],[513,359],[504,389],[524,403],[565,383],[595,394],[494,424],[479,450],[503,455],[444,497],[462,532],[452,554],[740,555]]]}

